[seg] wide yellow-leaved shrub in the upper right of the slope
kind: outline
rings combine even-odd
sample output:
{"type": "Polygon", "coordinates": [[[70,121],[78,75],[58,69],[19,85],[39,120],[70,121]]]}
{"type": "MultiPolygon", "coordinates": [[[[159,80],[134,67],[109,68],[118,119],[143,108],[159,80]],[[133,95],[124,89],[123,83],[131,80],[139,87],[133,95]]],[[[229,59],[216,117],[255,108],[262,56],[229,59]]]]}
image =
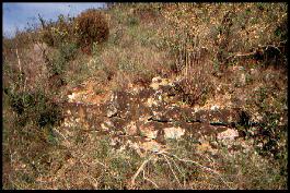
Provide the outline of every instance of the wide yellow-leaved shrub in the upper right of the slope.
{"type": "Polygon", "coordinates": [[[166,24],[161,35],[167,46],[181,45],[188,33],[195,36],[196,47],[207,48],[211,60],[225,67],[232,56],[287,37],[285,3],[177,3],[165,4],[161,14],[166,24]]]}

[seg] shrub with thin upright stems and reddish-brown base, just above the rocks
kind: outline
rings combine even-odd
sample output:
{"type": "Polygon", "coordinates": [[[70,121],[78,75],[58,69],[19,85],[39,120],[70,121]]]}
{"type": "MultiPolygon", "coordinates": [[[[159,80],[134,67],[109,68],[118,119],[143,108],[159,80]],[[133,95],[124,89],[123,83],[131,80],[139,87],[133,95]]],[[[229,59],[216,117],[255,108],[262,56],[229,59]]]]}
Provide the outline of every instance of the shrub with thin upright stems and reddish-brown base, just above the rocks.
{"type": "Polygon", "coordinates": [[[186,36],[177,45],[175,72],[185,77],[176,84],[176,89],[182,99],[189,104],[201,105],[205,102],[206,95],[212,87],[210,74],[212,67],[209,63],[209,53],[205,48],[195,46],[194,37],[186,36]],[[192,49],[188,47],[192,46],[192,49]]]}

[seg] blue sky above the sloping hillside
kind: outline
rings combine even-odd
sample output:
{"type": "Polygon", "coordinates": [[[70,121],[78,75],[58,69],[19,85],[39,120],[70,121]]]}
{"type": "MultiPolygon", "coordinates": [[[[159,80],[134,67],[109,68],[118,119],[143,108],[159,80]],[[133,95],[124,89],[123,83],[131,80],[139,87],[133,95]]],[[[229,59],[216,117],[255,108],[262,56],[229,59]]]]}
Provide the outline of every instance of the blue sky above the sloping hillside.
{"type": "Polygon", "coordinates": [[[105,3],[3,3],[2,31],[5,37],[13,37],[16,28],[38,24],[38,13],[45,20],[57,20],[59,14],[76,16],[89,8],[102,8],[105,3]]]}

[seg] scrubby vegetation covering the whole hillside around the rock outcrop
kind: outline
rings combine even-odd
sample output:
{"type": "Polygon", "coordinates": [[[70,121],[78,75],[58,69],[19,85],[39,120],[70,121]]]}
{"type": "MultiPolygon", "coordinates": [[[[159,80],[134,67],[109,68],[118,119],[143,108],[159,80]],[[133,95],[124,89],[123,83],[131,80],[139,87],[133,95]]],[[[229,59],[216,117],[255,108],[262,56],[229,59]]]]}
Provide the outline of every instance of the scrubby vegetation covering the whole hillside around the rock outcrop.
{"type": "Polygon", "coordinates": [[[3,189],[288,189],[287,14],[287,3],[109,3],[3,38],[3,189]],[[177,80],[179,106],[239,109],[253,148],[214,144],[208,157],[189,137],[140,156],[93,129],[59,132],[67,95],[88,82],[105,98],[155,76],[177,80]]]}

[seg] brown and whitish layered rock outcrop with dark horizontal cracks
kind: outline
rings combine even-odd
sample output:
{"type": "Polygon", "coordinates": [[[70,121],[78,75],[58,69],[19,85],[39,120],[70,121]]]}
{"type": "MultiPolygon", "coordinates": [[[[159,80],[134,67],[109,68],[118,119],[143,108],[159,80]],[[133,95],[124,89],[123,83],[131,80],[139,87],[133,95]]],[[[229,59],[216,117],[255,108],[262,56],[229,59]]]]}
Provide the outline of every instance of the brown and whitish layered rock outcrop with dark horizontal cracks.
{"type": "Polygon", "coordinates": [[[232,144],[239,137],[240,109],[179,105],[177,83],[154,77],[147,88],[112,92],[101,104],[70,102],[63,125],[67,130],[79,126],[109,134],[112,138],[121,136],[123,144],[139,141],[166,145],[170,140],[183,137],[201,144],[209,143],[205,138],[232,144]]]}

